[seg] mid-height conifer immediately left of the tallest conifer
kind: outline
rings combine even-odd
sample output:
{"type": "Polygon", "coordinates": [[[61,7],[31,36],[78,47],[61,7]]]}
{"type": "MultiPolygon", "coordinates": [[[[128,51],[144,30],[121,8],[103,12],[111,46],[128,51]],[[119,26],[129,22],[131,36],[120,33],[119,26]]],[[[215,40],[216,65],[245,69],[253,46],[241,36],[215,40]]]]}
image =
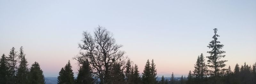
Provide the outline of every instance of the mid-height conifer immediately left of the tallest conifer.
{"type": "Polygon", "coordinates": [[[204,55],[201,54],[197,57],[197,61],[195,64],[195,70],[194,76],[195,76],[195,83],[196,84],[202,84],[204,82],[204,78],[207,75],[207,66],[204,62],[204,55]]]}

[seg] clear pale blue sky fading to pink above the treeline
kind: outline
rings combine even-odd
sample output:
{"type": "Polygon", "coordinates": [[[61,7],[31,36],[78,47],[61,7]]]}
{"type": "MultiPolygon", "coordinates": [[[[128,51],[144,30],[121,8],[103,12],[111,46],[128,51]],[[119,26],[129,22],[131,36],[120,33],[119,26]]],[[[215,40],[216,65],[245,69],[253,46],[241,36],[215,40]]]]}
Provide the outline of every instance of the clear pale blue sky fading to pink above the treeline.
{"type": "MultiPolygon", "coordinates": [[[[28,67],[39,62],[45,77],[57,77],[82,43],[83,31],[98,25],[112,32],[140,73],[154,59],[159,77],[194,70],[197,56],[217,28],[218,40],[234,69],[256,62],[255,0],[1,0],[0,54],[24,47],[28,67]]],[[[205,60],[208,60],[205,58],[205,60]]]]}

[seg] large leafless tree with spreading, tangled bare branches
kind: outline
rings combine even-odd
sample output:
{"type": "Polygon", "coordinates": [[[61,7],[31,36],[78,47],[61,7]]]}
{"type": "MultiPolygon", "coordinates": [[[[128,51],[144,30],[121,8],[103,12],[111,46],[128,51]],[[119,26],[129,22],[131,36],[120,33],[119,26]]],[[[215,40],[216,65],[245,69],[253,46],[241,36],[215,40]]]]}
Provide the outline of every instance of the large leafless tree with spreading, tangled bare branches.
{"type": "Polygon", "coordinates": [[[81,48],[80,55],[75,57],[78,62],[88,59],[93,74],[100,79],[100,84],[109,82],[110,67],[117,61],[125,61],[124,51],[119,48],[122,45],[116,44],[112,34],[107,29],[98,27],[94,31],[94,37],[87,31],[83,33],[83,44],[78,44],[81,48]]]}

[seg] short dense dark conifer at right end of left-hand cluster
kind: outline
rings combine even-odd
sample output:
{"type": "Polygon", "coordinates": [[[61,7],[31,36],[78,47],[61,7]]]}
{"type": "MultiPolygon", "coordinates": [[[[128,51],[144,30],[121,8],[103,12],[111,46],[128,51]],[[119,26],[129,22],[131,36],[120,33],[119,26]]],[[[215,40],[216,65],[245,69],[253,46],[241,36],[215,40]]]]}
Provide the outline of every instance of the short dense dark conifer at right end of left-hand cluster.
{"type": "Polygon", "coordinates": [[[36,61],[31,65],[28,80],[28,84],[45,84],[43,71],[36,61]]]}

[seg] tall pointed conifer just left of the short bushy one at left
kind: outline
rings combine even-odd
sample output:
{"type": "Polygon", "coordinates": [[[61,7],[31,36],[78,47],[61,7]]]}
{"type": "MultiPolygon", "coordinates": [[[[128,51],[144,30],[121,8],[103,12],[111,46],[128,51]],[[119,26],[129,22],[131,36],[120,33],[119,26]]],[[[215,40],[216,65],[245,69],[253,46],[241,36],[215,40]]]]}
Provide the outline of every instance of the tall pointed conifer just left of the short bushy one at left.
{"type": "Polygon", "coordinates": [[[17,76],[16,76],[16,83],[17,84],[28,84],[28,61],[25,58],[24,51],[23,51],[23,47],[20,47],[20,54],[19,54],[19,58],[20,58],[20,65],[17,71],[17,76]]]}

